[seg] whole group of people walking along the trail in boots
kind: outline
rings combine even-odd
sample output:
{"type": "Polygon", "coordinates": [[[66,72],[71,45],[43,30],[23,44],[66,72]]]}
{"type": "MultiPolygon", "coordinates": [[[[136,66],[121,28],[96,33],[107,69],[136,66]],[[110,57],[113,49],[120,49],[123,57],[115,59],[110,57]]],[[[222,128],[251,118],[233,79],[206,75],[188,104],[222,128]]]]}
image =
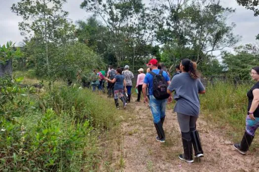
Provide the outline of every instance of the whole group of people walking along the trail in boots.
{"type": "MultiPolygon", "coordinates": [[[[143,68],[138,70],[139,75],[135,86],[138,90],[137,101],[140,101],[142,92],[144,102],[149,102],[150,112],[153,116],[157,133],[155,139],[164,143],[166,136],[163,123],[166,117],[166,104],[172,102],[172,97],[176,100],[174,112],[177,114],[184,149],[184,153],[180,154],[179,158],[193,163],[193,149],[194,157],[204,156],[199,133],[196,129],[196,121],[200,112],[199,94],[204,94],[206,91],[199,79],[196,70],[197,64],[187,58],[181,60],[181,63],[176,66],[176,73],[172,80],[170,80],[169,73],[163,70],[156,59],[151,59],[147,65],[147,74],[144,73],[143,68]],[[172,94],[174,95],[172,96],[172,94]]],[[[111,93],[113,93],[117,109],[119,108],[118,99],[122,101],[124,108],[131,99],[134,75],[129,71],[128,65],[124,69],[123,71],[121,68],[114,70],[110,66],[107,77],[103,76],[103,80],[108,81],[108,96],[111,97],[111,93]]],[[[98,75],[99,79],[100,75],[98,75]]],[[[259,127],[259,66],[254,67],[250,75],[258,83],[247,93],[249,103],[243,139],[241,143],[233,145],[241,154],[246,154],[254,139],[255,131],[259,127]]]]}

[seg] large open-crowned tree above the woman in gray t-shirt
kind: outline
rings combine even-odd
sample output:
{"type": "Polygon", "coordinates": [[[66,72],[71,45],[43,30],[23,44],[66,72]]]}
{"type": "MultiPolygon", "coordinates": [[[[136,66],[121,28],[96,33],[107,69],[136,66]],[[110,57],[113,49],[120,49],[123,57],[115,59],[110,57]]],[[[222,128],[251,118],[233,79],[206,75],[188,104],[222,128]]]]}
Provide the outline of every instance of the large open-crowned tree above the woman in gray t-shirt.
{"type": "Polygon", "coordinates": [[[176,49],[171,60],[178,61],[176,58],[183,56],[197,63],[212,60],[208,58],[213,58],[214,51],[231,47],[239,40],[232,33],[235,25],[226,24],[234,10],[223,8],[220,0],[153,0],[152,8],[161,21],[157,40],[165,49],[176,49]]]}

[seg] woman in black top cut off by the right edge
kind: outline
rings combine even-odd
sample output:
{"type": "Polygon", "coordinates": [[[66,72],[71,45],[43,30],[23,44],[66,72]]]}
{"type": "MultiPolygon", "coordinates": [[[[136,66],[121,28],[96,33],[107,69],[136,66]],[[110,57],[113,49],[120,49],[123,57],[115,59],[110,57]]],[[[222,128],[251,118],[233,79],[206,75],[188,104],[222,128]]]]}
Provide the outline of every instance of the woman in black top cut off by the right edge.
{"type": "Polygon", "coordinates": [[[259,66],[253,67],[250,75],[257,83],[247,92],[246,130],[241,143],[233,144],[234,148],[243,155],[248,151],[259,127],[259,66]]]}

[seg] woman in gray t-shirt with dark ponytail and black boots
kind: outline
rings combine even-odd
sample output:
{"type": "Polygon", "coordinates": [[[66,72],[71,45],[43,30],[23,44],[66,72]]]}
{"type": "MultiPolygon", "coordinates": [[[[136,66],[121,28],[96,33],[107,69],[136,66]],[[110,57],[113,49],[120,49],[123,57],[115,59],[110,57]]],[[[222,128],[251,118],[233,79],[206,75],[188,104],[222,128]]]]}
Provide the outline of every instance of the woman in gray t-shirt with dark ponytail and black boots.
{"type": "Polygon", "coordinates": [[[177,101],[174,112],[177,113],[184,146],[184,154],[180,154],[179,158],[192,163],[192,145],[195,157],[203,157],[196,121],[200,111],[198,94],[204,94],[205,88],[198,78],[195,62],[183,59],[180,68],[182,73],[173,77],[167,92],[175,91],[174,99],[177,101]]]}

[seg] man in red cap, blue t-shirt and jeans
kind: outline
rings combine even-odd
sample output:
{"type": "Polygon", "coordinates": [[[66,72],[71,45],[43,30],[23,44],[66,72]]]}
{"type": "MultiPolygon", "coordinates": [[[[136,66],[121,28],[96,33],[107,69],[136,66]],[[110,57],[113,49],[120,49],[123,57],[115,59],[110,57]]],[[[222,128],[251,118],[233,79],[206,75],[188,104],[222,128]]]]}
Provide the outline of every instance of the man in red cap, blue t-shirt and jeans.
{"type": "MultiPolygon", "coordinates": [[[[154,79],[158,75],[160,75],[163,82],[165,82],[167,85],[169,85],[170,78],[165,71],[158,69],[158,61],[156,59],[151,59],[148,62],[148,66],[149,66],[151,72],[147,73],[147,75],[144,79],[144,84],[142,86],[142,92],[144,95],[145,102],[148,102],[148,96],[147,96],[147,92],[146,92],[146,88],[148,85],[149,105],[150,105],[151,113],[153,115],[153,122],[155,125],[155,129],[156,129],[156,132],[158,135],[158,136],[156,136],[156,140],[158,142],[164,143],[165,134],[164,134],[164,130],[163,130],[163,122],[165,120],[165,109],[166,109],[167,98],[165,98],[165,99],[155,98],[155,95],[153,94],[154,88],[155,88],[153,86],[153,82],[154,82],[154,79]]],[[[172,101],[171,94],[168,96],[169,96],[168,101],[171,102],[172,101]]]]}

